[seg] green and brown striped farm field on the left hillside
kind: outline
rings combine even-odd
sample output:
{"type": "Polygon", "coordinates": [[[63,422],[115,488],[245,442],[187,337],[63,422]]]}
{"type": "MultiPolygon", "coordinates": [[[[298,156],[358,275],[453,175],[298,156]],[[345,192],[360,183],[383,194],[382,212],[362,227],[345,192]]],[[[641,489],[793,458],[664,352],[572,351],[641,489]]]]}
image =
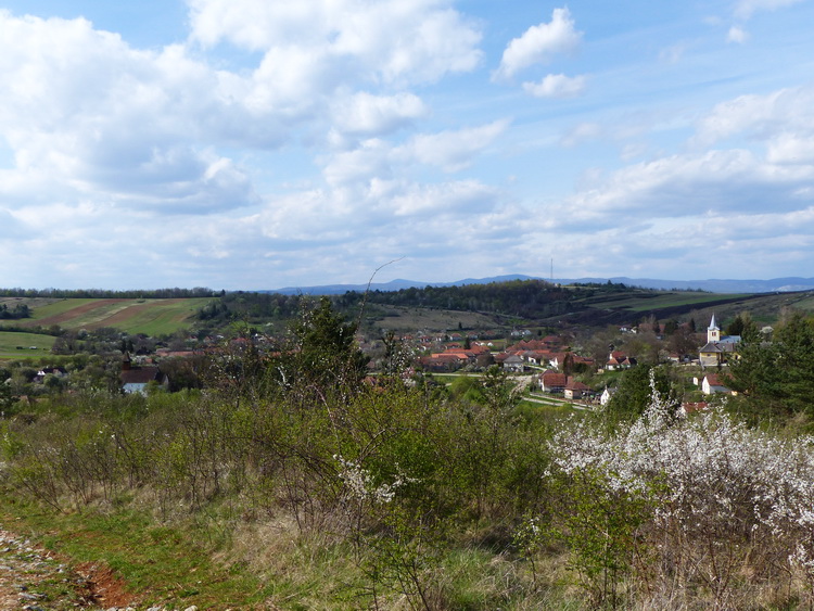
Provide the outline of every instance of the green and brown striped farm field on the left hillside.
{"type": "Polygon", "coordinates": [[[170,334],[189,327],[207,297],[176,300],[60,300],[33,308],[33,317],[13,321],[22,327],[99,329],[113,327],[127,333],[170,334]]]}

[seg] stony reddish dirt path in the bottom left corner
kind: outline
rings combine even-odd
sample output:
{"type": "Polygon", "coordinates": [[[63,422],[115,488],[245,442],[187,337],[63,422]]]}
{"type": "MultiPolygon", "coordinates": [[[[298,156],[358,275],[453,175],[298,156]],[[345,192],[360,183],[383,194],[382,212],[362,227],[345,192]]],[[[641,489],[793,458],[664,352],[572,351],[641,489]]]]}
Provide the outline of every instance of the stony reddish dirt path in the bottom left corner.
{"type": "Polygon", "coordinates": [[[126,609],[130,599],[110,569],[71,568],[24,537],[0,530],[0,610],[126,609]]]}

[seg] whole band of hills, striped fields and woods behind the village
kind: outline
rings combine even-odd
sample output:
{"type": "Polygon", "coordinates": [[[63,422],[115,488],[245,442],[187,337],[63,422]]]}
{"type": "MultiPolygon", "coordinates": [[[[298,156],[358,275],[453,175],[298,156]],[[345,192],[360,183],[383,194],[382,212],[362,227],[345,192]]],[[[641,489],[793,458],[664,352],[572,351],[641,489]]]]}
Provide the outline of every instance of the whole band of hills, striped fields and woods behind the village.
{"type": "MultiPolygon", "coordinates": [[[[30,316],[0,320],[0,329],[24,331],[60,327],[68,330],[115,328],[147,335],[173,334],[181,329],[222,329],[234,321],[281,331],[314,297],[268,292],[224,293],[212,297],[53,298],[0,297],[9,309],[25,305],[30,316]]],[[[774,323],[784,308],[814,311],[814,292],[712,293],[652,290],[627,284],[552,284],[543,280],[510,279],[448,287],[349,291],[331,295],[334,308],[363,330],[505,329],[517,326],[606,327],[635,324],[646,318],[695,318],[705,322],[715,313],[726,322],[749,311],[764,324],[774,323]]],[[[13,342],[12,342],[13,343],[13,342]]],[[[25,343],[25,342],[24,342],[25,343]]],[[[14,349],[14,347],[12,347],[14,349]]]]}

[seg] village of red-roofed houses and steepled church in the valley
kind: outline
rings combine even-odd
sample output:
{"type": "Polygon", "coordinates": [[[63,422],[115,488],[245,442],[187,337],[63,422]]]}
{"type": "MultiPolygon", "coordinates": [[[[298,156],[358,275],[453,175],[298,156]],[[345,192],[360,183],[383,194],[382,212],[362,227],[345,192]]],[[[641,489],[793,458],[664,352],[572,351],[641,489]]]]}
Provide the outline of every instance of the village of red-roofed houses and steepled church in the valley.
{"type": "MultiPolygon", "coordinates": [[[[620,346],[610,344],[605,358],[586,354],[588,351],[582,346],[582,349],[575,348],[573,343],[577,339],[573,333],[535,336],[527,329],[516,329],[509,333],[427,331],[404,334],[397,341],[400,353],[406,355],[403,359],[405,378],[422,375],[438,383],[448,383],[456,377],[478,377],[497,367],[527,391],[527,398],[532,402],[535,397],[537,400],[544,397],[572,403],[577,407],[607,405],[621,375],[639,362],[673,366],[681,371],[687,380],[684,393],[687,409],[703,407],[716,395],[732,394],[722,372],[732,359],[737,358],[740,338],[722,334],[713,315],[705,333],[691,332],[686,323],[676,327],[685,332],[685,347],[688,345],[687,336],[690,344],[697,344],[695,353],[670,352],[666,349],[670,345],[666,336],[669,327],[667,323],[656,321],[621,326],[614,330],[615,342],[620,346]],[[651,342],[643,344],[633,341],[643,335],[649,335],[651,342]],[[656,347],[652,342],[657,343],[656,347]],[[643,351],[643,345],[647,349],[643,351]],[[636,346],[637,352],[629,351],[636,346]],[[657,358],[653,359],[652,355],[657,355],[657,358]]],[[[763,331],[770,333],[771,329],[763,331]]],[[[110,390],[125,394],[178,391],[206,384],[201,372],[207,358],[242,354],[250,346],[265,354],[278,345],[274,338],[256,332],[231,340],[222,335],[187,335],[170,342],[155,342],[141,336],[135,343],[132,339],[120,335],[107,332],[106,343],[93,344],[100,354],[85,355],[67,365],[17,367],[7,371],[7,378],[17,395],[33,397],[102,382],[110,390]]],[[[382,370],[383,341],[371,340],[360,333],[355,340],[368,358],[370,378],[374,380],[382,370]]],[[[585,344],[584,338],[581,343],[585,344]]],[[[66,345],[66,342],[60,342],[53,352],[65,355],[71,352],[66,345]]],[[[82,347],[75,345],[74,349],[82,347]]]]}

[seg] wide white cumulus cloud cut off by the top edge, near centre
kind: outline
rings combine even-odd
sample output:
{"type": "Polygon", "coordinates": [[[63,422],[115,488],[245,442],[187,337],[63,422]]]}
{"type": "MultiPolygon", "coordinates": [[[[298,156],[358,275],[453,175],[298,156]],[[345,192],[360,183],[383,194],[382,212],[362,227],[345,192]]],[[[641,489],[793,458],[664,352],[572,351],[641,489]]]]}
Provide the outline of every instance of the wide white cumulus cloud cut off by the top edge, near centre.
{"type": "Polygon", "coordinates": [[[428,82],[481,60],[476,26],[449,0],[188,0],[192,39],[278,55],[311,55],[338,74],[428,82]]]}

